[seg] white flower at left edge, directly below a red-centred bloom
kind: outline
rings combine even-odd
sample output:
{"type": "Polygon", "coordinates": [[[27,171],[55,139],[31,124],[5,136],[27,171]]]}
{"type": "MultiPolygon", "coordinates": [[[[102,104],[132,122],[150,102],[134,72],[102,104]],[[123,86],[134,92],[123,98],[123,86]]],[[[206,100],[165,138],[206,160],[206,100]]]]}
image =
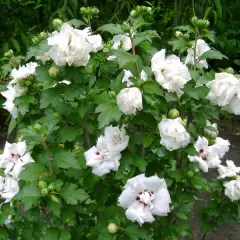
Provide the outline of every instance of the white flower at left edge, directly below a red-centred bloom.
{"type": "Polygon", "coordinates": [[[0,176],[0,196],[5,199],[5,203],[10,202],[19,192],[18,181],[11,176],[0,176]]]}

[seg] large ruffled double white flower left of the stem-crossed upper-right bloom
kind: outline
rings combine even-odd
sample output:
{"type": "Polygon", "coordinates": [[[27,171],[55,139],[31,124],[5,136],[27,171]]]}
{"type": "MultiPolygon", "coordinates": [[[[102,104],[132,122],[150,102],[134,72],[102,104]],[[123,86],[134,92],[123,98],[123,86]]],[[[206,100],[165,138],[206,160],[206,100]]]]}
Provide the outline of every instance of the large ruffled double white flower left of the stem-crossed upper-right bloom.
{"type": "Polygon", "coordinates": [[[155,53],[152,57],[152,72],[156,81],[169,92],[176,92],[181,96],[181,89],[191,80],[190,73],[186,65],[176,55],[165,56],[166,50],[155,53]]]}

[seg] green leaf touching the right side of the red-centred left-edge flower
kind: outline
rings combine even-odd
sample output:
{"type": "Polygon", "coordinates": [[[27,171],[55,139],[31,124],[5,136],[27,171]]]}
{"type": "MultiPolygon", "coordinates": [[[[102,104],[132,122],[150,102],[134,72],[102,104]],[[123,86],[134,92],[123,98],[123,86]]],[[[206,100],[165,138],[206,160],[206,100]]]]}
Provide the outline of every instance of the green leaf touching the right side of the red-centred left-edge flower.
{"type": "Polygon", "coordinates": [[[20,173],[20,179],[24,181],[33,182],[38,179],[39,176],[47,172],[45,166],[40,163],[29,163],[25,166],[25,169],[20,173]]]}

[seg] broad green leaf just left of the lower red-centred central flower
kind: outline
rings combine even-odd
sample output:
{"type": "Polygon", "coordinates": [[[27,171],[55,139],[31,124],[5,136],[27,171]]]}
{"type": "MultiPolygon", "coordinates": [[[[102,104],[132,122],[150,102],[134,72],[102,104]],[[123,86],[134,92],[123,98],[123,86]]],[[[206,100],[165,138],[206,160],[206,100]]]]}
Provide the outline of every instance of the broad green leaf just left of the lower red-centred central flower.
{"type": "Polygon", "coordinates": [[[54,150],[53,164],[57,165],[59,168],[75,168],[80,169],[80,165],[77,161],[75,153],[67,151],[65,149],[54,150]]]}

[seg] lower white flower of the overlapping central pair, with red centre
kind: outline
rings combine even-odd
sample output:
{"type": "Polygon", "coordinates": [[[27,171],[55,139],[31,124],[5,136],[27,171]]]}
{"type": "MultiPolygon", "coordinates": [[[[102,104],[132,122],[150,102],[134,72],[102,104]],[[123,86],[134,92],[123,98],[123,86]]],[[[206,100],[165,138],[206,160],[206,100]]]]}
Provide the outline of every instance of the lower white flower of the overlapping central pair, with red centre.
{"type": "Polygon", "coordinates": [[[117,171],[120,165],[121,154],[108,150],[108,142],[103,136],[100,136],[97,145],[84,153],[86,164],[92,167],[92,173],[97,176],[103,176],[111,170],[117,171]]]}

